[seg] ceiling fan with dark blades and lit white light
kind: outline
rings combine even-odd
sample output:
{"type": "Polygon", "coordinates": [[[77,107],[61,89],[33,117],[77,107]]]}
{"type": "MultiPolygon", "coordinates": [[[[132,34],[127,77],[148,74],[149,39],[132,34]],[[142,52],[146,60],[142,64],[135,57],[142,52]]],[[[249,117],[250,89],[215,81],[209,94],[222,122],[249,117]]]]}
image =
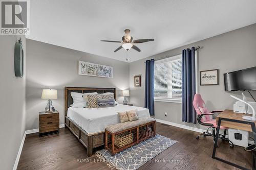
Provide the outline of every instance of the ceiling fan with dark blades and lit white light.
{"type": "Polygon", "coordinates": [[[135,43],[154,41],[154,39],[137,39],[137,40],[133,41],[133,37],[131,35],[129,35],[130,32],[131,32],[131,30],[129,30],[129,29],[124,30],[125,36],[122,37],[123,42],[122,41],[110,41],[110,40],[101,40],[101,41],[122,43],[122,45],[119,46],[114,52],[117,52],[121,48],[124,48],[126,51],[129,51],[131,48],[133,48],[134,50],[140,52],[140,48],[138,48],[136,45],[134,45],[135,43]]]}

